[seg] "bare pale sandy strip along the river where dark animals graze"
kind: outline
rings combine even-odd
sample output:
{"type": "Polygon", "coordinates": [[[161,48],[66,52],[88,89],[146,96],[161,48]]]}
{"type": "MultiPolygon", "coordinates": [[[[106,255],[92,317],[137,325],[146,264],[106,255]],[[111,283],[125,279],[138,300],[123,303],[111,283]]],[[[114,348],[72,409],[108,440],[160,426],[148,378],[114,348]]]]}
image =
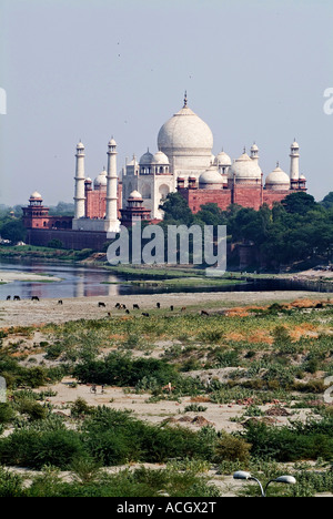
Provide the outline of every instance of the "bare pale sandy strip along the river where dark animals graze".
{"type": "Polygon", "coordinates": [[[144,294],[123,295],[112,297],[78,297],[63,299],[60,305],[58,299],[32,301],[2,301],[0,302],[0,328],[9,326],[32,326],[47,323],[65,323],[68,320],[109,318],[111,316],[125,315],[124,311],[117,311],[114,305],[119,302],[130,308],[132,315],[141,315],[142,311],[157,311],[157,303],[162,309],[168,309],[170,315],[181,312],[186,307],[189,313],[199,313],[201,309],[218,312],[232,306],[264,305],[272,303],[293,302],[300,298],[327,301],[333,298],[333,293],[313,292],[230,292],[230,293],[180,293],[180,294],[144,294]],[[99,303],[104,307],[99,307],[99,303]],[[133,304],[140,306],[139,311],[132,311],[133,304]],[[174,306],[171,313],[170,306],[174,306]]]}

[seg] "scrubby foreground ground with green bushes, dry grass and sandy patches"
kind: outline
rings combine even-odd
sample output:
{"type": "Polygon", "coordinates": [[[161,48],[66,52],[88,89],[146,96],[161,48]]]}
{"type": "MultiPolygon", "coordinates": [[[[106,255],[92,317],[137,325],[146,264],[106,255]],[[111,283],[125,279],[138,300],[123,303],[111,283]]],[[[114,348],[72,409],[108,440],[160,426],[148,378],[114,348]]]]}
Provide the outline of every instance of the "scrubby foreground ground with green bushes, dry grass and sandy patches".
{"type": "Polygon", "coordinates": [[[303,299],[2,329],[0,496],[256,493],[238,469],[332,493],[332,319],[303,299]]]}

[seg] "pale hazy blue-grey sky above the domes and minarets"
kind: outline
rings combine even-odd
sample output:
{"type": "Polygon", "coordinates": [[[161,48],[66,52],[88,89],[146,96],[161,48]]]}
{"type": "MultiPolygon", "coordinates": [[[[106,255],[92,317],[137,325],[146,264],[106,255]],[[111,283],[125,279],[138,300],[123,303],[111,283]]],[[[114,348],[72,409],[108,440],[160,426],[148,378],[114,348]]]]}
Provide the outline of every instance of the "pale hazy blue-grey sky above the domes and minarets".
{"type": "Polygon", "coordinates": [[[332,183],[332,0],[0,0],[0,203],[72,202],[75,145],[85,172],[157,151],[183,104],[211,128],[216,154],[255,141],[264,175],[290,145],[321,200],[332,183]]]}

